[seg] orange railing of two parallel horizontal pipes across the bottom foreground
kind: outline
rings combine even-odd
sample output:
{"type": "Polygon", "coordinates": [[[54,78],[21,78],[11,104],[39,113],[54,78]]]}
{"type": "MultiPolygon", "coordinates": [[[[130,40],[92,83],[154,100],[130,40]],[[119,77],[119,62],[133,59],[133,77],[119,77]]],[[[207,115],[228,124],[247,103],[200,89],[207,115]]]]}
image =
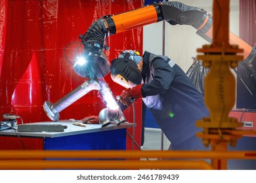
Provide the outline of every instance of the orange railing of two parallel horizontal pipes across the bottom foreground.
{"type": "Polygon", "coordinates": [[[256,152],[0,150],[0,169],[213,169],[203,159],[256,159],[256,152]]]}

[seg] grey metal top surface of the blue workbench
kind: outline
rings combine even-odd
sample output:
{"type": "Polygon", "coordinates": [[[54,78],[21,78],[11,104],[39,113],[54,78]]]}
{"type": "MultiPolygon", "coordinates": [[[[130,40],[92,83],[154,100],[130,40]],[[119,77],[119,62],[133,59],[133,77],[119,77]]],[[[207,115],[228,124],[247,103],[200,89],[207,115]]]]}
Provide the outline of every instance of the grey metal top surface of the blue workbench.
{"type": "MultiPolygon", "coordinates": [[[[66,129],[64,129],[63,132],[51,132],[51,131],[43,131],[43,132],[19,132],[16,131],[16,133],[21,137],[64,137],[68,135],[78,135],[83,133],[94,133],[98,131],[108,131],[108,130],[114,130],[114,129],[123,129],[123,128],[129,128],[133,127],[133,124],[125,122],[120,125],[116,124],[110,124],[106,127],[101,127],[100,124],[86,124],[86,127],[81,127],[77,125],[73,125],[73,122],[70,120],[61,120],[58,122],[36,122],[33,124],[58,124],[58,125],[66,125],[68,126],[66,129]]],[[[15,127],[17,129],[17,127],[15,127]]],[[[10,135],[10,136],[16,136],[16,133],[14,129],[5,129],[3,131],[0,131],[0,135],[10,135]]]]}

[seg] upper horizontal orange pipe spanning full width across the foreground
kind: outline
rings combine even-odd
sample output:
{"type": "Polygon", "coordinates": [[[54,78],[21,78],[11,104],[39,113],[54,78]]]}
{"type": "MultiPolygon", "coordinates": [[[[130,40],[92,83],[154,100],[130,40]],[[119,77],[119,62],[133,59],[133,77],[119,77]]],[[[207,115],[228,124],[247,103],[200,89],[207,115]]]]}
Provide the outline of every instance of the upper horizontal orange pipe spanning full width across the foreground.
{"type": "Polygon", "coordinates": [[[256,159],[256,151],[168,151],[168,150],[1,150],[0,159],[43,158],[179,158],[179,159],[256,159]]]}

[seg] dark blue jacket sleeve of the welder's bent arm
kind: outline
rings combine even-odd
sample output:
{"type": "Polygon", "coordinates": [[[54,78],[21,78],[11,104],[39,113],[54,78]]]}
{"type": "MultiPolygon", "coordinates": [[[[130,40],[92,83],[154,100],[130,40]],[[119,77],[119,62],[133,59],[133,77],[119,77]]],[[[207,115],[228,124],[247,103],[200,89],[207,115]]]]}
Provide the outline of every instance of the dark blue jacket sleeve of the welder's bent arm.
{"type": "Polygon", "coordinates": [[[161,58],[157,58],[152,61],[150,64],[150,71],[153,75],[153,80],[143,84],[143,97],[165,93],[169,89],[169,86],[175,76],[174,69],[167,61],[161,58]]]}

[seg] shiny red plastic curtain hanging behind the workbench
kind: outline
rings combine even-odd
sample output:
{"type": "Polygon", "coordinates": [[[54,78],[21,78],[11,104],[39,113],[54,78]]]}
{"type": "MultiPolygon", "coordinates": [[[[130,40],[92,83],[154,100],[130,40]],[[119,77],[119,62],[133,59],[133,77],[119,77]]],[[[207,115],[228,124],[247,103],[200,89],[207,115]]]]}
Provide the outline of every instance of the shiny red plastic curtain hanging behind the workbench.
{"type": "MultiPolygon", "coordinates": [[[[79,35],[98,18],[142,6],[143,2],[137,0],[1,0],[0,115],[14,113],[24,123],[51,121],[43,103],[55,103],[87,80],[77,75],[64,58],[65,46],[81,42],[79,35]]],[[[110,50],[105,52],[109,61],[123,50],[142,52],[142,27],[110,36],[109,44],[110,50]]],[[[66,47],[69,59],[74,57],[75,48],[77,44],[66,47]]],[[[114,95],[124,89],[109,75],[105,80],[114,95]]],[[[141,100],[136,105],[136,137],[140,144],[141,100]]],[[[60,120],[98,115],[104,107],[99,93],[92,91],[62,110],[60,120]]],[[[128,122],[133,122],[133,108],[127,108],[124,114],[128,122]]],[[[0,149],[5,148],[3,142],[0,149]]]]}

